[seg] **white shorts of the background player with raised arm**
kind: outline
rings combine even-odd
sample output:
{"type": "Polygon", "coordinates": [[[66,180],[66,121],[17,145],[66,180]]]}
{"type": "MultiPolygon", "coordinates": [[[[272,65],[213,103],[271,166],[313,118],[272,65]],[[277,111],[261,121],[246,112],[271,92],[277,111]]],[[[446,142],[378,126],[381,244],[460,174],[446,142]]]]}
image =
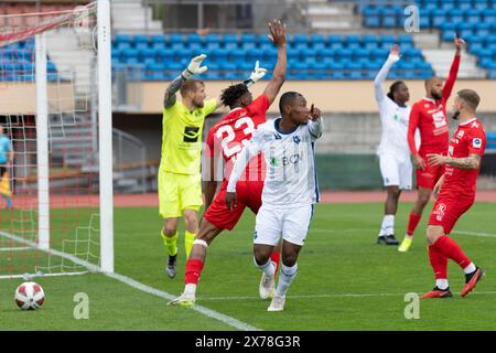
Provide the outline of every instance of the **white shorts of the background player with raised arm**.
{"type": "Polygon", "coordinates": [[[411,190],[413,167],[410,157],[385,153],[379,156],[380,174],[385,186],[411,190]]]}

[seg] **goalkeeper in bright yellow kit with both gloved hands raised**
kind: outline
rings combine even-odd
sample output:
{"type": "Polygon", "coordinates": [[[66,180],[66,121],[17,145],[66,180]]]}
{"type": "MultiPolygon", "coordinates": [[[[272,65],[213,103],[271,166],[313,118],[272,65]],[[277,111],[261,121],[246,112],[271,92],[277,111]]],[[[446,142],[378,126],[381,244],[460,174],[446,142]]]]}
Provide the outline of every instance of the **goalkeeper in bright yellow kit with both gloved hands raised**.
{"type": "MultiPolygon", "coordinates": [[[[160,215],[164,218],[161,236],[168,250],[165,271],[170,278],[176,275],[177,224],[184,215],[186,232],[184,247],[186,259],[198,232],[197,214],[203,204],[201,153],[202,131],[205,118],[220,105],[220,96],[205,100],[205,84],[192,78],[207,71],[201,66],[206,55],[192,58],[187,68],[165,89],[162,120],[162,156],[159,168],[160,215]],[[182,101],[176,101],[180,90],[182,101]]],[[[260,78],[256,72],[250,76],[260,78]]]]}

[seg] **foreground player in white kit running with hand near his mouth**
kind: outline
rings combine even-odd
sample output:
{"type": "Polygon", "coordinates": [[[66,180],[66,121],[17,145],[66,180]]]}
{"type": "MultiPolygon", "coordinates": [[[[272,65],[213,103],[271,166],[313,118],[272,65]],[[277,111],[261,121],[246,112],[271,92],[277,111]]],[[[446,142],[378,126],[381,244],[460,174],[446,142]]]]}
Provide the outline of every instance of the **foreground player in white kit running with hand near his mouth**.
{"type": "Polygon", "coordinates": [[[323,130],[321,111],[313,104],[309,109],[306,99],[296,92],[281,96],[279,110],[281,118],[259,126],[239,154],[226,193],[227,207],[234,210],[241,195],[238,180],[249,160],[262,152],[267,173],[256,218],[254,260],[269,278],[276,275],[270,254],[282,236],[279,281],[268,311],[284,310],[285,293],[296,277],[298,255],[319,202],[314,143],[323,130]]]}

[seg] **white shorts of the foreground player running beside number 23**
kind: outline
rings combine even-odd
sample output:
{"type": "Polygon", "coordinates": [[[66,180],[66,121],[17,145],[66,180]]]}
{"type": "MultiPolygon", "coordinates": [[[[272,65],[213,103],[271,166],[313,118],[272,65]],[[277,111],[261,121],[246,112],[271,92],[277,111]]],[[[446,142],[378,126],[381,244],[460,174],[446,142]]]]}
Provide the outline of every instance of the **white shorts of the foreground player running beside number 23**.
{"type": "Polygon", "coordinates": [[[302,246],[313,216],[313,205],[274,208],[262,205],[255,224],[255,244],[278,245],[282,238],[302,246]]]}

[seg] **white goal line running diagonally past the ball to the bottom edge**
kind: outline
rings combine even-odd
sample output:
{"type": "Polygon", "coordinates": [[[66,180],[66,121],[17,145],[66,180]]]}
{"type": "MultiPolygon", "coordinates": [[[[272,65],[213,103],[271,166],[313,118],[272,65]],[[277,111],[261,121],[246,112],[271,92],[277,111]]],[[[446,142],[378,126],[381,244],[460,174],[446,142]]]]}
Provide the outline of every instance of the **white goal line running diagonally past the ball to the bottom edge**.
{"type": "MultiPolygon", "coordinates": [[[[26,245],[29,245],[31,247],[37,248],[37,244],[36,243],[25,240],[25,239],[23,239],[23,238],[21,238],[19,236],[15,236],[15,235],[12,235],[12,234],[9,234],[9,233],[6,233],[6,232],[0,232],[0,235],[7,237],[9,239],[12,239],[12,240],[15,240],[15,242],[19,242],[19,243],[23,243],[23,244],[26,244],[26,245]]],[[[80,258],[78,258],[78,257],[76,257],[74,255],[65,254],[65,253],[62,253],[62,252],[58,252],[58,250],[54,250],[54,249],[41,249],[41,250],[44,252],[44,253],[47,253],[50,255],[55,255],[55,256],[60,256],[62,258],[72,260],[76,265],[80,265],[80,266],[86,267],[90,272],[99,272],[99,267],[98,266],[96,266],[94,264],[90,264],[88,261],[82,260],[80,258]]],[[[173,299],[176,298],[176,296],[173,296],[171,293],[168,293],[166,291],[162,291],[162,290],[155,289],[153,287],[143,285],[143,284],[141,284],[141,282],[139,282],[139,281],[137,281],[137,280],[134,280],[132,278],[130,278],[130,277],[126,277],[126,276],[122,276],[122,275],[119,275],[119,274],[109,274],[109,272],[101,272],[101,274],[104,274],[107,277],[117,279],[118,281],[120,281],[120,282],[122,282],[125,285],[128,285],[128,286],[130,286],[132,288],[136,288],[138,290],[143,291],[143,292],[147,292],[149,295],[153,295],[153,296],[166,299],[166,300],[173,300],[173,299]]],[[[21,275],[21,277],[23,275],[21,275]]],[[[202,307],[202,306],[195,304],[191,309],[195,310],[195,311],[197,311],[197,312],[200,312],[200,313],[202,313],[202,314],[204,314],[204,315],[206,315],[208,318],[218,320],[218,321],[220,321],[220,322],[223,322],[225,324],[228,324],[228,325],[234,327],[234,328],[236,328],[238,330],[241,330],[241,331],[261,331],[260,329],[258,329],[256,327],[252,327],[252,325],[249,325],[246,322],[239,321],[239,320],[237,320],[235,318],[225,315],[225,314],[223,314],[220,312],[217,312],[215,310],[212,310],[212,309],[208,309],[208,308],[205,308],[205,307],[202,307]]]]}

